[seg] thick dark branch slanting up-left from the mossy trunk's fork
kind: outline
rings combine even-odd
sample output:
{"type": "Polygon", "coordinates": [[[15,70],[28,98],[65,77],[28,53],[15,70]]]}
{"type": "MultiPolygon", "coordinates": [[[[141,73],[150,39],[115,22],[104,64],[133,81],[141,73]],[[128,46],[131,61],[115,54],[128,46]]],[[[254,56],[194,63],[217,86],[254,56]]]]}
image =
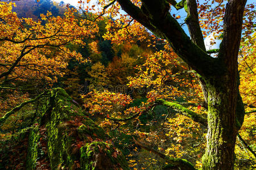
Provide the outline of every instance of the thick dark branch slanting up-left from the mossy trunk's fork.
{"type": "Polygon", "coordinates": [[[200,75],[221,74],[222,69],[216,58],[194,44],[185,34],[179,23],[169,12],[170,4],[164,0],[142,1],[142,7],[130,0],[117,0],[122,9],[155,35],[168,40],[174,51],[200,75]],[[202,64],[203,63],[203,64],[202,64]],[[218,71],[216,71],[218,70],[218,71]]]}

